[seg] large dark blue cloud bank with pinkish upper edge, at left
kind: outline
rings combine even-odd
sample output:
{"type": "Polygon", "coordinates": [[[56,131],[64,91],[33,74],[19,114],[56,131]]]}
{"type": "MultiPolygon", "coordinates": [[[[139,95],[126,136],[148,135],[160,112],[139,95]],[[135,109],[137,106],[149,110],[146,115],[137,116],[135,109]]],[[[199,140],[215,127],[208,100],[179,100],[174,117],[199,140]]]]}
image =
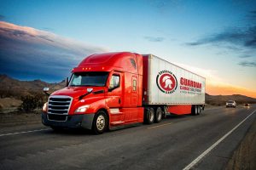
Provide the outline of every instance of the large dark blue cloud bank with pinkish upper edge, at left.
{"type": "Polygon", "coordinates": [[[108,51],[49,31],[0,21],[0,72],[60,81],[85,56],[108,51]]]}

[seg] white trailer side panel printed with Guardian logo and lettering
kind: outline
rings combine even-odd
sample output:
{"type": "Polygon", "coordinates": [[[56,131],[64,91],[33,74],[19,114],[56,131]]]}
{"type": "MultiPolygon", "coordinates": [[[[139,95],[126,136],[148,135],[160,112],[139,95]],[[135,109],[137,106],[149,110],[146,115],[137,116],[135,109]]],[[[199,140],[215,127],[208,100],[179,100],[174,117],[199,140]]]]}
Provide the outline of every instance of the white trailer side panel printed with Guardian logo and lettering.
{"type": "Polygon", "coordinates": [[[204,105],[206,79],[152,54],[148,57],[148,105],[204,105]]]}

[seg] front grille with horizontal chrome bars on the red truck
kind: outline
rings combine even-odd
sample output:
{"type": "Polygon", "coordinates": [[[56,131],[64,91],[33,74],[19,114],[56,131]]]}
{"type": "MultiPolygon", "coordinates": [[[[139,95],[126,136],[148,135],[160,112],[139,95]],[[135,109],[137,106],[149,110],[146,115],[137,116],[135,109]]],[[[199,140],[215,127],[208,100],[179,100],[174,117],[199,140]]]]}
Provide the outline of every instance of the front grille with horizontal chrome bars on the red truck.
{"type": "Polygon", "coordinates": [[[72,98],[69,96],[50,96],[48,103],[48,113],[58,115],[68,115],[72,98]]]}

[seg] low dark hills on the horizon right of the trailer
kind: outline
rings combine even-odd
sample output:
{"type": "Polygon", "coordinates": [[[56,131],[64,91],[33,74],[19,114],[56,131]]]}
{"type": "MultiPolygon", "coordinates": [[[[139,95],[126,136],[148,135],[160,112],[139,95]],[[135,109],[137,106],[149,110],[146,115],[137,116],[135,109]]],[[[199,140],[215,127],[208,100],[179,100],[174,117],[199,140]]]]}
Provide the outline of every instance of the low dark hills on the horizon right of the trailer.
{"type": "Polygon", "coordinates": [[[206,103],[211,105],[224,105],[228,100],[235,100],[238,104],[256,103],[256,99],[241,94],[209,95],[206,94],[206,103]]]}

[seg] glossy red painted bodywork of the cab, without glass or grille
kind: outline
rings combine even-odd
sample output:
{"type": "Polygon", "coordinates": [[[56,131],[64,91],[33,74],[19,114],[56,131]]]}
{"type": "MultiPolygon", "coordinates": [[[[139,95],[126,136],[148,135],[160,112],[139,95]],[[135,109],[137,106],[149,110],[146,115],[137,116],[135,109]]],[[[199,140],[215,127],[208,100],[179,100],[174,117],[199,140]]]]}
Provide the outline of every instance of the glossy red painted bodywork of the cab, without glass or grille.
{"type": "Polygon", "coordinates": [[[106,87],[67,87],[56,91],[52,95],[68,95],[73,97],[73,102],[69,110],[69,115],[82,105],[90,105],[84,113],[96,113],[104,109],[108,111],[109,125],[129,124],[133,122],[143,122],[143,56],[133,53],[106,53],[93,54],[85,59],[73,69],[74,72],[82,71],[108,71],[108,81],[106,87]],[[136,65],[132,65],[131,59],[136,65]],[[120,86],[108,92],[109,82],[112,75],[119,75],[120,86]],[[133,81],[136,81],[136,90],[133,88],[133,81]],[[84,96],[84,101],[79,100],[79,96],[87,93],[87,88],[93,91],[104,90],[102,94],[89,94],[84,96]],[[119,109],[119,113],[111,114],[110,109],[119,109]],[[121,122],[121,123],[117,123],[121,122]]]}

